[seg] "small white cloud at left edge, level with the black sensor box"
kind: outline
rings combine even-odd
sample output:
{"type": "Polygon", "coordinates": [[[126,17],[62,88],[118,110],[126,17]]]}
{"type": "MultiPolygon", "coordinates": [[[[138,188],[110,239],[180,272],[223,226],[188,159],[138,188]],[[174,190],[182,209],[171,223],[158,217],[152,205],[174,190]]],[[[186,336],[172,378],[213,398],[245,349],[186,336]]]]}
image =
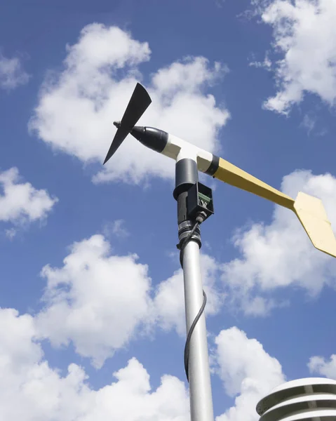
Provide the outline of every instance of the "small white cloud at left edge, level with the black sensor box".
{"type": "MultiPolygon", "coordinates": [[[[15,167],[0,173],[0,188],[3,190],[0,193],[0,221],[15,225],[45,219],[58,202],[46,190],[36,189],[29,182],[20,182],[15,167]]],[[[8,235],[13,236],[13,231],[10,230],[8,235]]]]}

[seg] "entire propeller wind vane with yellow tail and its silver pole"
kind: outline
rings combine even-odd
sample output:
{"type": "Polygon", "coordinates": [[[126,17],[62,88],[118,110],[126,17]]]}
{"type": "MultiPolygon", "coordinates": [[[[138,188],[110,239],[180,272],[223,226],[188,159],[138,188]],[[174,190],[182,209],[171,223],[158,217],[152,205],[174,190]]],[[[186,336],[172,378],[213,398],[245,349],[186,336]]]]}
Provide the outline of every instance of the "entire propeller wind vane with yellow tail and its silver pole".
{"type": "Polygon", "coordinates": [[[203,314],[206,293],[203,291],[199,265],[199,225],[213,214],[213,195],[209,187],[199,182],[198,172],[293,210],[313,245],[332,257],[336,257],[336,239],[320,199],[299,192],[294,200],[229,161],[175,135],[158,128],[135,126],[151,102],[145,88],[137,83],[123,118],[114,122],[117,131],[104,164],[114,155],[128,134],[133,135],[142,145],[176,161],[173,196],[177,200],[180,241],[177,248],[181,250],[180,262],[184,276],[188,332],[184,348],[184,368],[189,381],[191,420],[213,421],[206,319],[203,314]]]}

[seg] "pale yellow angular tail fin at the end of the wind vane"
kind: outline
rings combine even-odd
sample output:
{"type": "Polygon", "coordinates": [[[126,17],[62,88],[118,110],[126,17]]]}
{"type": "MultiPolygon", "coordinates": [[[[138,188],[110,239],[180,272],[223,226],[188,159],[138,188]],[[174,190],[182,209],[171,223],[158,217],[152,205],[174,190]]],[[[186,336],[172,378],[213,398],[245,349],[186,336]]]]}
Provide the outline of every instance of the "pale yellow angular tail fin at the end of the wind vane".
{"type": "Polygon", "coordinates": [[[336,239],[322,201],[299,192],[294,211],[314,246],[336,258],[336,239]]]}

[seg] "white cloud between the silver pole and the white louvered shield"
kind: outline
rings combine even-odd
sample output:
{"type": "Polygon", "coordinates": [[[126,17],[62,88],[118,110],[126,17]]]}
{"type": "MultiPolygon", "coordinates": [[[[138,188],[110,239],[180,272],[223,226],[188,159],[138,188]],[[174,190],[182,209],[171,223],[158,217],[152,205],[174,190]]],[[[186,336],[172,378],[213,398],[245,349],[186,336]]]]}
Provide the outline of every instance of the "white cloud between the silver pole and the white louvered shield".
{"type": "Polygon", "coordinates": [[[235,397],[235,406],[216,421],[257,421],[257,402],[285,382],[281,364],[255,339],[238,328],[222,330],[215,338],[216,359],[225,392],[235,397]]]}

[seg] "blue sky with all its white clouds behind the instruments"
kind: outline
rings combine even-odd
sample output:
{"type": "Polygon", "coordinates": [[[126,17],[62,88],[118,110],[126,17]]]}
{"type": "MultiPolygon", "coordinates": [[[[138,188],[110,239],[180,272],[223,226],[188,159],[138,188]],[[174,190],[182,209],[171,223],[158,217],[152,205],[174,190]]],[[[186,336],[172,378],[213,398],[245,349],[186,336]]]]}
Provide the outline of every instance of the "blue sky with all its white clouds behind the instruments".
{"type": "MultiPolygon", "coordinates": [[[[189,419],[173,162],[128,137],[102,168],[112,123],[140,81],[140,123],[317,196],[335,228],[335,18],[332,0],[1,7],[0,420],[189,419]]],[[[215,417],[253,421],[285,380],[336,378],[335,262],[289,210],[202,180],[215,417]]]]}

